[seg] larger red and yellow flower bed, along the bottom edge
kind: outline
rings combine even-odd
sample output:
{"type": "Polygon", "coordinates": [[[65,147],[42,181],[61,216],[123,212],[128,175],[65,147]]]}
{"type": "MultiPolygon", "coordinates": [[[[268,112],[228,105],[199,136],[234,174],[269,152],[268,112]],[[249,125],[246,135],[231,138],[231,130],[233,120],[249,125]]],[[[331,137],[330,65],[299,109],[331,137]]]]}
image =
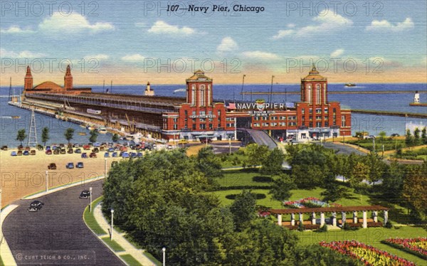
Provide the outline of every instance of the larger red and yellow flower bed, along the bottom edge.
{"type": "Polygon", "coordinates": [[[320,242],[320,245],[325,248],[330,248],[356,260],[361,260],[364,265],[382,266],[415,266],[415,263],[405,260],[404,258],[391,255],[389,252],[376,249],[370,245],[359,243],[355,240],[334,241],[331,243],[320,242]]]}

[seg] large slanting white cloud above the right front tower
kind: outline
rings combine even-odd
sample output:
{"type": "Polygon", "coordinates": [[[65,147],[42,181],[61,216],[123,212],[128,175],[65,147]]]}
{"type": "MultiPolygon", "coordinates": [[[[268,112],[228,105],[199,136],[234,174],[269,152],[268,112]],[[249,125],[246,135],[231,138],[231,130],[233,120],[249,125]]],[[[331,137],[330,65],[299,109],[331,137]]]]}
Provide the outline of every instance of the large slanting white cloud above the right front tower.
{"type": "MultiPolygon", "coordinates": [[[[299,29],[288,29],[280,30],[278,34],[273,36],[273,39],[285,38],[287,36],[310,36],[318,33],[331,33],[332,31],[338,31],[342,28],[352,26],[353,21],[348,18],[344,18],[341,15],[334,14],[330,11],[322,11],[319,16],[312,19],[316,23],[314,25],[305,26],[299,29]]],[[[294,28],[295,25],[288,25],[290,28],[294,28]]]]}

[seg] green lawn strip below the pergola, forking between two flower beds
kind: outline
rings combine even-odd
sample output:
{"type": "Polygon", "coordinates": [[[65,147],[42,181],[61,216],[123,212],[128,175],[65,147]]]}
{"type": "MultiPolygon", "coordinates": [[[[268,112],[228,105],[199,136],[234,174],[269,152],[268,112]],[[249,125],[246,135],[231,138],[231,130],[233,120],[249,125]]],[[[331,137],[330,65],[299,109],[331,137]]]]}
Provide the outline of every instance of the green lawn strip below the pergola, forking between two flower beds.
{"type": "Polygon", "coordinates": [[[319,243],[320,241],[337,241],[337,240],[357,240],[359,242],[372,245],[380,250],[386,250],[391,254],[399,257],[404,257],[406,260],[415,262],[417,265],[426,265],[426,260],[411,255],[408,252],[392,248],[389,245],[381,243],[381,240],[386,238],[418,238],[426,235],[427,232],[423,228],[416,228],[412,226],[402,226],[400,229],[387,229],[387,228],[366,228],[356,231],[346,230],[331,230],[325,233],[317,233],[313,231],[297,232],[300,237],[300,243],[302,245],[310,245],[319,243]]]}

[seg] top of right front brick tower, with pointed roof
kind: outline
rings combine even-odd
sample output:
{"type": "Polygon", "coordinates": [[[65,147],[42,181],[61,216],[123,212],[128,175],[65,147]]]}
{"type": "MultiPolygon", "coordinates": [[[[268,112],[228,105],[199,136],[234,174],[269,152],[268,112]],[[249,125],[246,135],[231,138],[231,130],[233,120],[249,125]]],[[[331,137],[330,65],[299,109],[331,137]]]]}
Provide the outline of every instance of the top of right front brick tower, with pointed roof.
{"type": "Polygon", "coordinates": [[[301,79],[301,102],[309,105],[327,104],[327,78],[319,74],[314,63],[310,73],[301,79]]]}

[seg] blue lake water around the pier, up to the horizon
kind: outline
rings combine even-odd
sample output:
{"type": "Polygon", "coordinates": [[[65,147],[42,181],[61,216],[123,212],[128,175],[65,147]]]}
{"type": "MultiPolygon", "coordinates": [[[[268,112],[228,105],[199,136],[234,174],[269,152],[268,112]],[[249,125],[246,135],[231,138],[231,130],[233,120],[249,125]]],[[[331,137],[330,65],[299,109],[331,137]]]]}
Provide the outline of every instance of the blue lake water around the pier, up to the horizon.
{"type": "MultiPolygon", "coordinates": [[[[102,86],[93,86],[93,92],[102,92],[102,86]]],[[[112,93],[142,95],[145,86],[143,85],[117,85],[105,87],[109,88],[112,93]]],[[[156,95],[172,96],[172,97],[185,97],[185,85],[152,85],[152,89],[156,95]]],[[[19,87],[15,87],[18,92],[19,87]]],[[[240,95],[242,85],[214,85],[214,99],[217,101],[233,101],[242,100],[250,101],[251,95],[240,95]]],[[[268,92],[270,85],[244,85],[245,92],[268,92]]],[[[273,85],[273,92],[298,92],[300,90],[299,84],[275,84],[273,85]]],[[[362,109],[362,110],[381,110],[381,111],[399,111],[399,112],[414,112],[414,113],[427,113],[427,107],[411,107],[409,103],[413,101],[413,94],[416,90],[421,93],[421,102],[427,102],[427,84],[426,83],[399,83],[399,84],[358,84],[357,87],[344,87],[342,84],[329,84],[329,91],[367,91],[367,90],[404,90],[408,93],[404,94],[339,94],[329,95],[329,101],[341,102],[342,107],[349,109],[362,109]]],[[[8,95],[9,87],[1,87],[0,95],[8,95]]],[[[253,95],[252,100],[263,98],[268,100],[268,95],[253,95]]],[[[298,102],[300,95],[273,95],[273,102],[298,102]]],[[[31,112],[22,110],[17,107],[12,107],[7,104],[8,98],[0,98],[0,116],[1,116],[1,131],[0,131],[0,145],[8,145],[16,147],[19,142],[16,141],[16,132],[19,129],[26,129],[28,134],[28,125],[31,119],[31,112]],[[6,118],[8,116],[20,116],[20,119],[6,118]]],[[[405,118],[405,117],[391,117],[384,115],[361,115],[352,114],[352,134],[357,131],[367,131],[369,134],[378,134],[385,131],[387,134],[398,133],[404,134],[406,124],[420,124],[425,126],[427,119],[405,118]]],[[[88,130],[80,127],[78,124],[61,121],[53,117],[41,115],[36,113],[36,127],[38,142],[41,142],[41,129],[48,127],[50,129],[50,137],[48,143],[63,143],[65,137],[63,136],[65,129],[71,127],[75,129],[75,134],[72,142],[85,143],[88,142],[88,130]],[[86,136],[78,135],[78,132],[86,132],[86,136]]],[[[110,142],[111,134],[99,134],[98,142],[110,142]]],[[[26,141],[23,142],[26,144],[26,141]]]]}

